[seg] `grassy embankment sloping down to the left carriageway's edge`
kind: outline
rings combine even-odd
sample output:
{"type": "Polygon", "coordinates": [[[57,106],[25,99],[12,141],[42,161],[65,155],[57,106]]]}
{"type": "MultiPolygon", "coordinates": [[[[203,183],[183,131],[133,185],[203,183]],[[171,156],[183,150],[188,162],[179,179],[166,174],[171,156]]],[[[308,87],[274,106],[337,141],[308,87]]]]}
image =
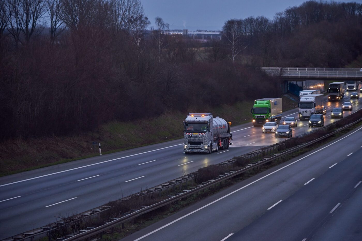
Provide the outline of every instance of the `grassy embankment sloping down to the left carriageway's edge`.
{"type": "MultiPolygon", "coordinates": [[[[210,111],[235,126],[251,120],[252,105],[253,101],[244,101],[210,111]]],[[[285,110],[291,109],[292,101],[283,98],[283,106],[285,110]]],[[[97,156],[98,147],[94,154],[92,141],[101,143],[102,154],[107,154],[182,138],[182,121],[186,114],[176,112],[129,122],[112,121],[97,130],[71,136],[7,140],[0,147],[0,176],[97,156]]]]}

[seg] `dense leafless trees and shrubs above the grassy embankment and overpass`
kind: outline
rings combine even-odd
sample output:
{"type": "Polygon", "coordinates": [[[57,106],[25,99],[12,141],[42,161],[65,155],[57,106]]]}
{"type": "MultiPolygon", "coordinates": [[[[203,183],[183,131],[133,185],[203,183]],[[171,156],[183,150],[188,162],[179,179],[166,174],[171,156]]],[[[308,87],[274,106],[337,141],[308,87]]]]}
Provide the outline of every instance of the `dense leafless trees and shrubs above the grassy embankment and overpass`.
{"type": "Polygon", "coordinates": [[[343,6],[228,20],[204,43],[166,34],[161,17],[150,28],[139,0],[0,0],[1,139],[279,96],[256,67],[340,67],[361,53],[361,4],[343,6]],[[315,48],[327,62],[312,62],[315,48]]]}

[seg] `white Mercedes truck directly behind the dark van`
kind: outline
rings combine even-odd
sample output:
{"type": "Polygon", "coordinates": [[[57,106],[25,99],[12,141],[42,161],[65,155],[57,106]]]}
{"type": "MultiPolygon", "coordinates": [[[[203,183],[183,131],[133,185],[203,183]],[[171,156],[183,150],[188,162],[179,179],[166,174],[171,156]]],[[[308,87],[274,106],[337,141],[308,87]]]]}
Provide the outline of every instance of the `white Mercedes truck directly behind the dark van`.
{"type": "Polygon", "coordinates": [[[323,94],[307,94],[298,103],[299,119],[310,119],[312,114],[323,114],[323,94]]]}

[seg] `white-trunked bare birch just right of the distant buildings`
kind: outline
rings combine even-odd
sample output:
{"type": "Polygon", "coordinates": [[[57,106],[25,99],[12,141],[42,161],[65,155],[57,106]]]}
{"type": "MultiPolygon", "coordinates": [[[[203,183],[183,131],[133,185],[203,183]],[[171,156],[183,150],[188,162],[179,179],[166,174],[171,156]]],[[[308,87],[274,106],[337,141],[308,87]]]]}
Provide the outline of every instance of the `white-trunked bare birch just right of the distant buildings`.
{"type": "Polygon", "coordinates": [[[227,46],[231,51],[231,61],[234,62],[236,56],[241,52],[241,26],[242,21],[231,19],[225,22],[222,35],[226,39],[227,46]]]}

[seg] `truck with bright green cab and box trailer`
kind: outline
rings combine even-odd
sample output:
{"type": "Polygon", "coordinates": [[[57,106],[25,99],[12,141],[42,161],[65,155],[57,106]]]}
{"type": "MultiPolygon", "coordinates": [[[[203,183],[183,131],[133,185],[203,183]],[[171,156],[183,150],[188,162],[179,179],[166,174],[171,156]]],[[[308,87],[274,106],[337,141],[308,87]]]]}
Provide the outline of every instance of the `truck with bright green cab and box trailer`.
{"type": "Polygon", "coordinates": [[[279,123],[283,117],[282,98],[255,100],[250,112],[253,114],[253,126],[263,125],[268,121],[279,123]]]}

